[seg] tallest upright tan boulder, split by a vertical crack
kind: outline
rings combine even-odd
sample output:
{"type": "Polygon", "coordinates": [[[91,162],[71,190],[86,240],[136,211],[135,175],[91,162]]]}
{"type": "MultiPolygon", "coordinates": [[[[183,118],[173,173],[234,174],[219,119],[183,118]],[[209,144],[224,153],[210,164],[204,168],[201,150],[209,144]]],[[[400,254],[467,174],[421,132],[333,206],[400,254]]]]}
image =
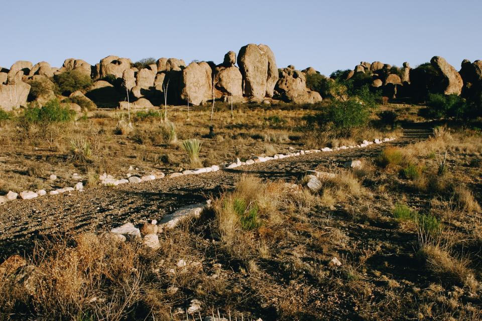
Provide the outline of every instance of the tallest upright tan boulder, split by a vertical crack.
{"type": "Polygon", "coordinates": [[[237,65],[243,75],[246,96],[273,97],[279,75],[275,56],[268,46],[249,44],[242,47],[237,56],[237,65]]]}

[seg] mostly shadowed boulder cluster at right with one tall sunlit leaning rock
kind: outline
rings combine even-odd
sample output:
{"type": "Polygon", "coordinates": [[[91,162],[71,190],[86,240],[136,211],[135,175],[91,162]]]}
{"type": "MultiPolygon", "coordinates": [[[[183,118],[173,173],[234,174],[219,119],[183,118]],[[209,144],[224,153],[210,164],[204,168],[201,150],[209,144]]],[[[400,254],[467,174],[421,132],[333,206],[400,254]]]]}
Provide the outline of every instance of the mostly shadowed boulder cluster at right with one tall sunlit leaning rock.
{"type": "Polygon", "coordinates": [[[462,61],[457,71],[444,58],[435,56],[430,63],[411,68],[408,62],[398,68],[380,61],[360,62],[344,79],[371,77],[372,88],[380,88],[389,98],[411,97],[423,100],[428,93],[455,94],[473,98],[482,94],[482,61],[462,61]],[[361,76],[361,77],[360,77],[361,76]]]}

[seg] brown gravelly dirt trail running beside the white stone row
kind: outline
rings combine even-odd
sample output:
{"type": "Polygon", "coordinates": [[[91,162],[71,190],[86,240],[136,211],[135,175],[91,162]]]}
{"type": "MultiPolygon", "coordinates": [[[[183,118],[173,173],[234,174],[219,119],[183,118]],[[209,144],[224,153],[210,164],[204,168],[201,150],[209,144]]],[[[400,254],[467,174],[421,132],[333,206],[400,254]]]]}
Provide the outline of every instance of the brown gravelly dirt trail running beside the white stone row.
{"type": "Polygon", "coordinates": [[[406,126],[403,137],[365,148],[320,152],[228,171],[4,203],[0,205],[0,260],[13,253],[24,254],[39,237],[73,231],[107,231],[126,221],[160,219],[182,206],[232,188],[244,173],[295,180],[307,170],[335,171],[346,161],[374,157],[387,145],[404,145],[424,139],[429,132],[427,124],[406,126]]]}

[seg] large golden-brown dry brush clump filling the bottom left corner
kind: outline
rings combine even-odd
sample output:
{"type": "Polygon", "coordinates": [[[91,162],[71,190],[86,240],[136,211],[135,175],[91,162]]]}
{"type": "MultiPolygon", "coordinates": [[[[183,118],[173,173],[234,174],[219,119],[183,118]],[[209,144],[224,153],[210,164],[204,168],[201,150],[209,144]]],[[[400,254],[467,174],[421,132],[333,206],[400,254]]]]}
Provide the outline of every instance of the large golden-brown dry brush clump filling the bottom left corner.
{"type": "Polygon", "coordinates": [[[3,313],[25,306],[39,319],[119,320],[126,314],[141,295],[136,243],[94,234],[70,242],[44,243],[16,275],[0,276],[3,313]]]}

